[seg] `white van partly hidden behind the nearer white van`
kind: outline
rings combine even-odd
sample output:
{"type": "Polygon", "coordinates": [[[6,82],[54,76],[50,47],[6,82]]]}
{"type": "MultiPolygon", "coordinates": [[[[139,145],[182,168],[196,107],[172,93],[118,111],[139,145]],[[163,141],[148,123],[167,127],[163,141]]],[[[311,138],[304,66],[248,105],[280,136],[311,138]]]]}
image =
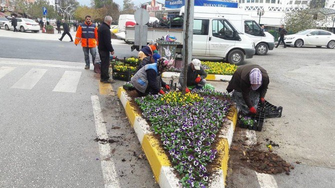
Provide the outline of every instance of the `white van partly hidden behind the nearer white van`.
{"type": "MultiPolygon", "coordinates": [[[[183,7],[181,11],[183,12],[183,7]]],[[[238,31],[254,41],[255,52],[258,55],[265,55],[268,50],[272,50],[274,47],[272,34],[262,31],[258,23],[240,8],[210,7],[210,11],[208,11],[208,7],[194,6],[194,16],[198,14],[210,17],[215,14],[216,17],[228,19],[238,31]]]]}

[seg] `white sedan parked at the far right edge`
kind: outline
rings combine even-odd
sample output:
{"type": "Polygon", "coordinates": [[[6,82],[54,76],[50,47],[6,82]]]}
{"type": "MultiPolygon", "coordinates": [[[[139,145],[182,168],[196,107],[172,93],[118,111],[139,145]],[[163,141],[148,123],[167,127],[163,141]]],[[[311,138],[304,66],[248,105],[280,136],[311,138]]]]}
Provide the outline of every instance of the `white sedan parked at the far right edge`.
{"type": "Polygon", "coordinates": [[[335,34],[322,29],[306,29],[295,34],[284,36],[286,45],[294,45],[301,47],[305,45],[311,46],[327,46],[327,48],[335,47],[335,34]]]}

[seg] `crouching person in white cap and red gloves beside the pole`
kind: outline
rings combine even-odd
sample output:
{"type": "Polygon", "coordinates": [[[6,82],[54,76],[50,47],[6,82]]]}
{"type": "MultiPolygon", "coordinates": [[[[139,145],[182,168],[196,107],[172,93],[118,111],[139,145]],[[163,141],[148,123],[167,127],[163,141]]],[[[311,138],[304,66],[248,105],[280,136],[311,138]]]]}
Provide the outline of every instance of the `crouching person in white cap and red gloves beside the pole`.
{"type": "MultiPolygon", "coordinates": [[[[204,71],[204,68],[201,66],[201,61],[199,59],[193,59],[192,62],[187,65],[187,83],[186,83],[186,92],[190,92],[187,88],[188,86],[195,86],[196,89],[201,89],[205,84],[207,73],[204,71]],[[200,75],[200,76],[198,76],[200,75]]],[[[184,69],[181,69],[179,76],[178,89],[181,90],[183,86],[184,79],[184,69]]]]}

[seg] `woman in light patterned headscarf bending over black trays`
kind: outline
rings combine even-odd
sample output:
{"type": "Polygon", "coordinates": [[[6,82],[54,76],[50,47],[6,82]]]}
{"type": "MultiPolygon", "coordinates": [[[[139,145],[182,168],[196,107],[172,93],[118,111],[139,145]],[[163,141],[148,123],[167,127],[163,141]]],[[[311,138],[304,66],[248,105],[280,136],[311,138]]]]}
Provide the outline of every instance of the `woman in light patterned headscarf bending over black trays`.
{"type": "Polygon", "coordinates": [[[238,109],[244,113],[256,114],[258,101],[265,102],[265,94],[269,83],[267,72],[257,64],[238,66],[232,74],[226,88],[232,92],[231,99],[236,102],[238,109]]]}

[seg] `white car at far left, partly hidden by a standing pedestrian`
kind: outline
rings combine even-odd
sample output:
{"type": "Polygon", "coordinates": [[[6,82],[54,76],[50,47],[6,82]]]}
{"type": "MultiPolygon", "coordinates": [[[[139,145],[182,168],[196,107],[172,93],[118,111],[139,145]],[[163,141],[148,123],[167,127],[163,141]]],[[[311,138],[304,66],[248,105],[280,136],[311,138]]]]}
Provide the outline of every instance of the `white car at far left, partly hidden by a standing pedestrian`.
{"type": "MultiPolygon", "coordinates": [[[[21,32],[24,32],[26,30],[31,30],[32,32],[38,32],[39,31],[39,25],[36,21],[28,18],[16,18],[17,19],[17,26],[16,29],[20,30],[21,32]]],[[[8,21],[4,23],[4,29],[14,29],[13,26],[11,26],[11,21],[8,21]]]]}

